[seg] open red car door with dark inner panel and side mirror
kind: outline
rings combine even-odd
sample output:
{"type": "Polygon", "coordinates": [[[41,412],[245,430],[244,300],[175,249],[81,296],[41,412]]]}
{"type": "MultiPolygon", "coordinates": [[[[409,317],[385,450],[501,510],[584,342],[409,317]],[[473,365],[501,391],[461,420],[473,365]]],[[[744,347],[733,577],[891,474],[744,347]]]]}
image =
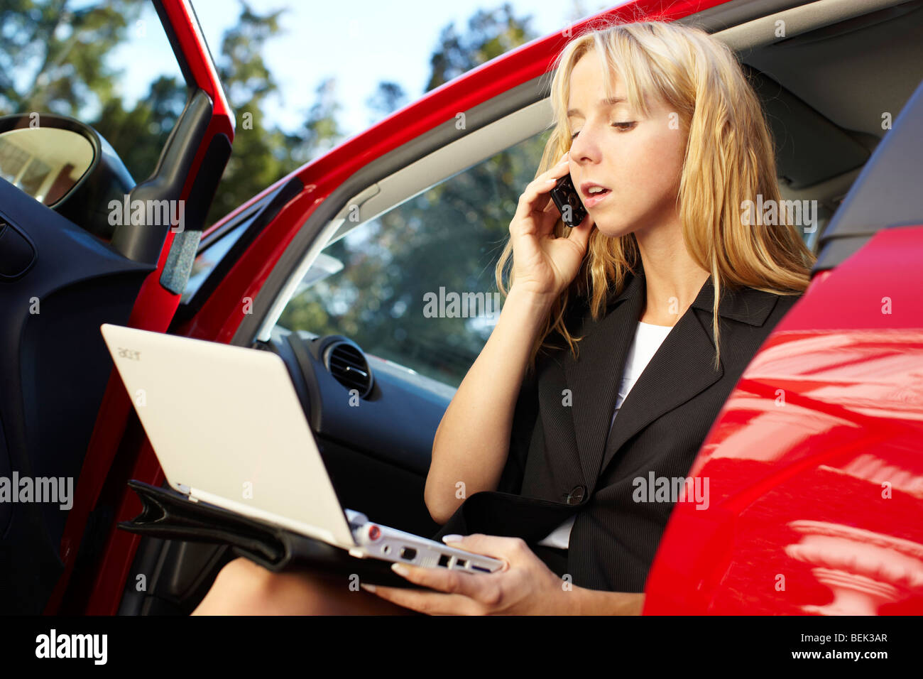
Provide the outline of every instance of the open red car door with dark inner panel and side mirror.
{"type": "Polygon", "coordinates": [[[78,554],[92,554],[95,528],[107,523],[94,508],[131,410],[100,325],[166,330],[231,153],[234,118],[192,7],[153,4],[187,98],[147,179],[136,184],[108,142],[76,120],[43,111],[0,118],[0,142],[17,135],[17,151],[36,139],[52,139],[51,148],[66,131],[91,148],[63,207],[0,180],[2,613],[68,610],[78,554]],[[123,191],[115,197],[133,217],[112,220],[109,199],[123,191]],[[160,206],[182,219],[164,223],[160,206]],[[109,238],[87,228],[101,214],[115,224],[109,238]]]}

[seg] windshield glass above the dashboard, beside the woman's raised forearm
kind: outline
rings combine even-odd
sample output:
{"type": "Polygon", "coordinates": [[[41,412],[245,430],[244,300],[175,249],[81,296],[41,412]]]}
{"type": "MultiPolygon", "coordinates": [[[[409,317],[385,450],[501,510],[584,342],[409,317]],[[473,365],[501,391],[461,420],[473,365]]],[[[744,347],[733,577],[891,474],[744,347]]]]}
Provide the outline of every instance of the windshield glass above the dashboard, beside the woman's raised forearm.
{"type": "Polygon", "coordinates": [[[289,301],[279,324],[346,335],[369,354],[457,387],[497,322],[494,268],[549,134],[497,153],[331,243],[323,251],[332,262],[322,267],[325,275],[312,267],[313,283],[289,301]]]}

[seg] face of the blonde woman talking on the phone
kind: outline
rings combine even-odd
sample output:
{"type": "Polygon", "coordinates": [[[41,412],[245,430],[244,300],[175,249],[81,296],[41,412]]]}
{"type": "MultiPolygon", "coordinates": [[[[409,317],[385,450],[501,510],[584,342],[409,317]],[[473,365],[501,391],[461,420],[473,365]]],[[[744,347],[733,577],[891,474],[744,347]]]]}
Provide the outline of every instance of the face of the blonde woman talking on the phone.
{"type": "Polygon", "coordinates": [[[570,176],[596,228],[605,236],[678,223],[679,178],[686,135],[665,103],[649,103],[650,114],[629,107],[620,79],[613,79],[616,103],[604,103],[603,79],[594,52],[583,55],[570,74],[570,176]],[[590,183],[608,189],[588,193],[590,183]]]}

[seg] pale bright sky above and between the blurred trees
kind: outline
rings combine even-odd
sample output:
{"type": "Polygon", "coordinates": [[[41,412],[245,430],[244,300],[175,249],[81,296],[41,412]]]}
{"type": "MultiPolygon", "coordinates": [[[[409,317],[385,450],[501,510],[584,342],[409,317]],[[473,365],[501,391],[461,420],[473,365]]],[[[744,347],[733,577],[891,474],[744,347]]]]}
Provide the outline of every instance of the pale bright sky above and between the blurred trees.
{"type": "MultiPolygon", "coordinates": [[[[515,16],[533,16],[533,30],[540,36],[563,30],[576,18],[620,4],[598,0],[509,0],[515,16]]],[[[267,102],[267,114],[274,116],[283,129],[296,129],[315,103],[321,81],[333,77],[337,80],[336,100],[341,105],[338,122],[344,137],[351,137],[376,122],[366,101],[377,90],[379,81],[398,82],[407,101],[413,102],[424,93],[429,56],[438,45],[441,30],[454,21],[463,34],[477,9],[502,5],[503,0],[251,0],[250,6],[258,14],[278,8],[287,10],[280,18],[281,33],[270,39],[264,50],[264,59],[281,91],[279,97],[267,102]]],[[[211,54],[218,58],[223,31],[236,23],[240,6],[233,0],[193,0],[193,6],[211,54]]],[[[133,28],[130,44],[114,52],[114,63],[126,68],[122,89],[129,101],[146,94],[150,80],[157,75],[178,73],[171,63],[173,56],[167,51],[169,45],[162,29],[150,22],[158,22],[158,18],[148,5],[140,25],[133,28]],[[129,52],[138,54],[139,50],[150,57],[143,64],[128,58],[129,52]]]]}

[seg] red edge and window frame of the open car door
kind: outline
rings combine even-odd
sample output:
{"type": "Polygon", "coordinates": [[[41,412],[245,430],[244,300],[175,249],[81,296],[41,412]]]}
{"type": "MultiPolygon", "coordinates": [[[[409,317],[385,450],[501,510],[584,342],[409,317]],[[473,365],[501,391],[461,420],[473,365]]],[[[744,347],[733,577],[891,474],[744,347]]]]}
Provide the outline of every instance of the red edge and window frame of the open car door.
{"type": "MultiPolygon", "coordinates": [[[[230,155],[234,118],[191,5],[186,0],[154,0],[153,4],[190,93],[154,174],[132,193],[139,200],[184,201],[186,224],[181,231],[167,229],[162,234],[129,226],[113,237],[114,251],[143,264],[148,275],[135,291],[132,303],[127,304],[127,316],[106,322],[164,332],[179,304],[179,293],[189,275],[190,255],[198,246],[206,212],[230,155]]],[[[105,351],[101,322],[91,314],[86,320],[95,323],[92,333],[105,351]]],[[[122,507],[126,479],[138,471],[136,461],[145,442],[143,430],[139,435],[137,423],[132,423],[131,402],[111,361],[99,375],[97,379],[105,382],[102,406],[96,417],[88,420],[92,434],[79,470],[74,506],[67,515],[63,537],[54,545],[59,545],[64,567],[54,590],[42,600],[39,612],[62,612],[65,601],[65,612],[89,612],[88,602],[102,601],[93,596],[96,586],[91,584],[99,582],[100,574],[108,572],[107,564],[113,563],[114,552],[109,547],[114,519],[122,507]],[[72,577],[75,586],[66,596],[72,577]],[[85,590],[77,592],[81,587],[85,590]]],[[[127,564],[119,570],[124,578],[127,564]]],[[[117,600],[103,603],[102,608],[114,612],[117,600]]]]}

